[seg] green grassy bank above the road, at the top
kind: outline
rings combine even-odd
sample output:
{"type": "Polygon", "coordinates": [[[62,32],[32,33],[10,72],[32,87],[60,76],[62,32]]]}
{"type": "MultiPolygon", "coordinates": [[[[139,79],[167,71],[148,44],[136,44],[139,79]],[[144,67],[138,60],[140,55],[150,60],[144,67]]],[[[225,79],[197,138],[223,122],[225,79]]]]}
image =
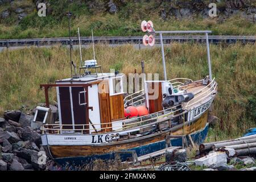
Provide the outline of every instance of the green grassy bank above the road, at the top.
{"type": "MultiPolygon", "coordinates": [[[[65,15],[68,10],[72,16],[72,36],[76,36],[80,27],[81,36],[90,36],[91,29],[95,36],[131,36],[143,35],[141,21],[152,20],[156,30],[212,30],[213,35],[255,35],[256,24],[242,16],[241,13],[225,16],[228,7],[224,1],[217,3],[217,9],[222,13],[216,18],[203,18],[199,13],[207,14],[209,1],[114,1],[116,13],[109,13],[108,2],[97,1],[48,1],[47,16],[39,17],[35,1],[14,1],[0,5],[0,13],[9,11],[6,19],[0,16],[0,39],[44,38],[68,36],[68,20],[65,15]],[[176,3],[177,2],[177,3],[176,3]],[[199,6],[199,7],[197,7],[199,6]],[[27,16],[18,20],[15,13],[17,7],[24,9],[27,16]],[[171,10],[181,7],[195,11],[186,18],[177,18],[171,10]],[[166,12],[162,18],[161,12],[166,12]]],[[[251,2],[251,7],[254,7],[251,2]]],[[[236,10],[237,11],[237,10],[236,10]]]]}

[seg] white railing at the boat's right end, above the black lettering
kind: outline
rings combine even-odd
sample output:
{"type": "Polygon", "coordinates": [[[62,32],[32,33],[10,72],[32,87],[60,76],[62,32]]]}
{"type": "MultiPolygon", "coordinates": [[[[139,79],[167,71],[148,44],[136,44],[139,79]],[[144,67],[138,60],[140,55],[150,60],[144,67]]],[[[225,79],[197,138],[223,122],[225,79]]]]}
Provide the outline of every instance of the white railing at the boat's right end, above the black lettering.
{"type": "Polygon", "coordinates": [[[199,94],[197,94],[192,100],[188,101],[187,104],[185,105],[185,108],[188,109],[188,107],[198,104],[199,102],[201,103],[201,101],[203,101],[205,98],[216,94],[217,86],[218,86],[218,84],[215,81],[215,78],[213,78],[213,80],[207,86],[205,86],[203,89],[200,89],[197,91],[197,93],[199,93],[199,94]],[[206,94],[206,95],[204,96],[204,94],[206,94]],[[204,96],[204,97],[202,97],[202,96],[204,96]],[[200,99],[198,99],[198,98],[200,98],[200,99]]]}

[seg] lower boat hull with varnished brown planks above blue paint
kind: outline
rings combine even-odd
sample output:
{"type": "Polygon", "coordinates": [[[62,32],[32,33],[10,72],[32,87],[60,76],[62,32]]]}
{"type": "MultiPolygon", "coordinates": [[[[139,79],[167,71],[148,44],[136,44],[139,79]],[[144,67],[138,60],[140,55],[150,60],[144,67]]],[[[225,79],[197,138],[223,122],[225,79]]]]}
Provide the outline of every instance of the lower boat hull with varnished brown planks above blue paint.
{"type": "MultiPolygon", "coordinates": [[[[73,146],[44,146],[52,158],[59,164],[81,164],[93,159],[114,159],[115,151],[134,150],[138,156],[162,150],[166,147],[166,135],[190,134],[195,143],[203,142],[208,133],[208,111],[200,118],[176,130],[168,130],[154,135],[139,137],[134,141],[122,141],[101,145],[73,145],[73,146]]],[[[181,146],[181,138],[171,139],[172,146],[181,146]]],[[[120,154],[121,159],[131,157],[131,154],[120,154]]]]}

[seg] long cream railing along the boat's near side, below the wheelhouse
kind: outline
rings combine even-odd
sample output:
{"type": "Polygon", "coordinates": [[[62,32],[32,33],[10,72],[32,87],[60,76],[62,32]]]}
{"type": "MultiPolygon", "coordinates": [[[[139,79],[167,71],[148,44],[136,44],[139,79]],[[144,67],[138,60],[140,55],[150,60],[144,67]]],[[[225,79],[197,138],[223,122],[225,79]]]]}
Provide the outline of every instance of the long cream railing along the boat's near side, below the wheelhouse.
{"type": "MultiPolygon", "coordinates": [[[[179,105],[180,106],[180,105],[179,105]]],[[[176,107],[176,106],[175,106],[176,107]]],[[[60,134],[60,131],[79,131],[80,133],[86,133],[86,131],[89,130],[94,130],[94,131],[104,131],[104,130],[109,130],[112,129],[115,132],[118,131],[126,131],[126,130],[133,130],[133,129],[141,129],[143,127],[147,127],[148,125],[154,125],[156,123],[159,122],[164,122],[166,121],[166,119],[161,119],[164,117],[175,117],[174,113],[176,111],[181,111],[182,108],[180,109],[175,109],[175,107],[170,107],[168,109],[162,110],[162,111],[158,111],[156,113],[152,113],[152,114],[148,114],[142,117],[138,117],[138,118],[130,118],[130,119],[125,119],[125,120],[120,120],[120,122],[122,122],[122,129],[119,130],[114,130],[115,127],[120,127],[120,126],[108,126],[109,124],[112,124],[112,122],[109,123],[89,123],[89,124],[84,124],[84,125],[62,125],[62,124],[44,124],[41,126],[41,130],[42,133],[46,133],[46,131],[52,131],[53,133],[55,133],[55,131],[57,131],[57,134],[60,134]],[[167,112],[168,113],[164,113],[167,112]],[[148,118],[151,117],[151,118],[148,118]],[[148,119],[144,119],[143,118],[148,118],[148,119]],[[134,122],[137,121],[137,122],[134,122]],[[150,122],[151,121],[151,122],[150,122]],[[97,125],[100,126],[106,126],[106,127],[96,127],[97,125]],[[81,127],[79,129],[64,129],[64,127],[68,127],[68,126],[72,126],[72,127],[81,127]],[[88,128],[88,126],[94,126],[93,129],[88,128]],[[130,126],[134,126],[134,127],[130,127],[130,126]],[[87,128],[86,128],[87,127],[87,128]]],[[[102,133],[102,132],[101,132],[102,133]]]]}

